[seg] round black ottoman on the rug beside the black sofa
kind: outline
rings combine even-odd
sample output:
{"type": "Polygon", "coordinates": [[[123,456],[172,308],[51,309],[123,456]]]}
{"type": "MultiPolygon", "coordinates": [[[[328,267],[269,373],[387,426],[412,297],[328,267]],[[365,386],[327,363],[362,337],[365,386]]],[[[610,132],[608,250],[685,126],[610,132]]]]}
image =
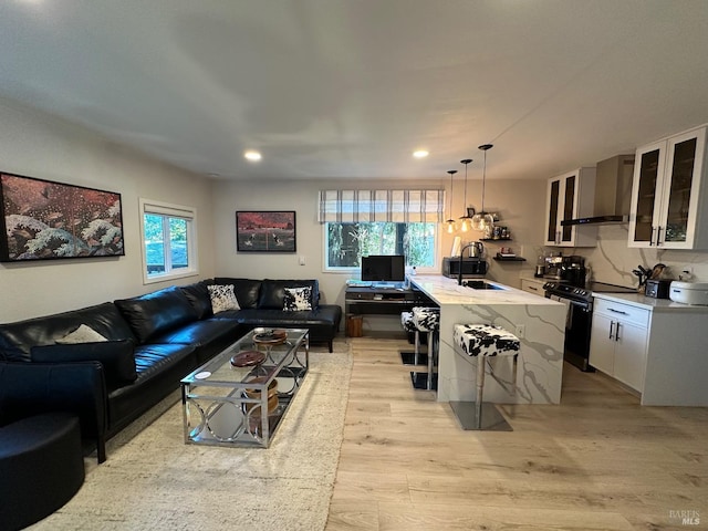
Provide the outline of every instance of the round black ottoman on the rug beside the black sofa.
{"type": "Polygon", "coordinates": [[[79,418],[49,413],[0,427],[0,528],[48,517],[84,482],[79,418]]]}

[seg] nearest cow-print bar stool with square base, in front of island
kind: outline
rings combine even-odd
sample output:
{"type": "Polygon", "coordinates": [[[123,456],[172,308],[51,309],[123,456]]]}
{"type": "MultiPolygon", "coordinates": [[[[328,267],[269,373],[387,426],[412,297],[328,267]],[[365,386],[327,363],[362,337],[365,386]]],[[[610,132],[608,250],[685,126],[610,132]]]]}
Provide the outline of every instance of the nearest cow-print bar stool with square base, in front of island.
{"type": "MultiPolygon", "coordinates": [[[[477,357],[475,402],[450,402],[462,429],[512,431],[493,404],[483,404],[485,362],[492,356],[513,356],[514,365],[521,342],[511,332],[491,324],[456,324],[452,342],[458,353],[477,357]]],[[[516,371],[514,371],[516,374],[516,371]]]]}

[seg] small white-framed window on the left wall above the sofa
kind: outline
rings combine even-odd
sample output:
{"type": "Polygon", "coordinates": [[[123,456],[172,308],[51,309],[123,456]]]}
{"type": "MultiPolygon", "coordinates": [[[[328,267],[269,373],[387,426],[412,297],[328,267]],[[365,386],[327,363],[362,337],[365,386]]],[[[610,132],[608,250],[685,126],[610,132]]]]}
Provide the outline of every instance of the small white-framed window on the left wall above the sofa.
{"type": "Polygon", "coordinates": [[[197,274],[196,209],[140,199],[140,214],[144,282],[197,274]]]}

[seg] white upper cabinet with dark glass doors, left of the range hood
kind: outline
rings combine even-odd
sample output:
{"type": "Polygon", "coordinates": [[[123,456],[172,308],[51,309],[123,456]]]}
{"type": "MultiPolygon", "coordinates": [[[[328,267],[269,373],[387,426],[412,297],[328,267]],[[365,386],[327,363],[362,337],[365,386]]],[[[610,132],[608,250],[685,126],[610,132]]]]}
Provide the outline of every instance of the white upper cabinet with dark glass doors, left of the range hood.
{"type": "Polygon", "coordinates": [[[544,243],[553,247],[595,247],[597,228],[562,226],[566,219],[593,216],[595,168],[579,168],[549,179],[544,243]]]}

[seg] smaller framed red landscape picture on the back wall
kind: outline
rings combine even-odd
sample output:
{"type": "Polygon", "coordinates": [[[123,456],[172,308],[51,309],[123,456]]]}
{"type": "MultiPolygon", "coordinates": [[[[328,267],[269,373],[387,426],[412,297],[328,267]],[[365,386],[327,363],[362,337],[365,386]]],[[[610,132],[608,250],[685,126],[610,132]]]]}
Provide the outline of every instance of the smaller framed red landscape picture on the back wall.
{"type": "Polygon", "coordinates": [[[295,212],[236,212],[236,249],[239,252],[295,252],[295,212]]]}

